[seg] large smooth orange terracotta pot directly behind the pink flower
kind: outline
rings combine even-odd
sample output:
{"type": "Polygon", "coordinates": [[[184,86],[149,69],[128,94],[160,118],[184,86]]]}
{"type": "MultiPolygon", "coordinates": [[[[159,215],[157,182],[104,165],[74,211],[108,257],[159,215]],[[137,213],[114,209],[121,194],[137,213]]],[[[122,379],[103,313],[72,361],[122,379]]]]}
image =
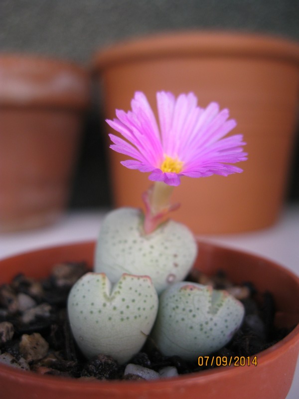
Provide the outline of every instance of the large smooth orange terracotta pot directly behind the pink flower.
{"type": "MultiPolygon", "coordinates": [[[[175,218],[195,233],[230,233],[270,226],[281,209],[297,119],[299,45],[271,37],[221,32],[158,35],[99,52],[94,71],[102,83],[105,116],[131,109],[136,90],[155,109],[155,93],[193,91],[201,107],[229,108],[243,133],[249,159],[243,174],[182,179],[175,218]],[[192,210],[191,210],[192,209],[192,210]]],[[[112,129],[106,126],[108,132],[112,129]]],[[[115,132],[113,132],[115,133],[115,132]]],[[[116,206],[141,206],[147,174],[120,165],[110,151],[116,206]]]]}

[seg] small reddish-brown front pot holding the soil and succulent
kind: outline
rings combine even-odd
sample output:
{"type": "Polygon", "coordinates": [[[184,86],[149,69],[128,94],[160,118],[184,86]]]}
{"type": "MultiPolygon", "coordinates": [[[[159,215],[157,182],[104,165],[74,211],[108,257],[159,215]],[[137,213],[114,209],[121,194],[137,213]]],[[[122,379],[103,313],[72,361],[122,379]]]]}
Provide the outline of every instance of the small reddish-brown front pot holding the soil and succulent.
{"type": "MultiPolygon", "coordinates": [[[[271,291],[281,326],[299,322],[299,278],[283,267],[243,252],[199,243],[195,267],[213,273],[224,269],[235,282],[253,281],[271,291]]],[[[0,283],[19,272],[40,278],[61,261],[93,263],[94,243],[33,251],[0,261],[0,283]]],[[[0,365],[1,399],[282,399],[290,389],[299,351],[299,325],[282,341],[257,355],[257,366],[222,367],[150,382],[86,382],[41,376],[0,365]]]]}

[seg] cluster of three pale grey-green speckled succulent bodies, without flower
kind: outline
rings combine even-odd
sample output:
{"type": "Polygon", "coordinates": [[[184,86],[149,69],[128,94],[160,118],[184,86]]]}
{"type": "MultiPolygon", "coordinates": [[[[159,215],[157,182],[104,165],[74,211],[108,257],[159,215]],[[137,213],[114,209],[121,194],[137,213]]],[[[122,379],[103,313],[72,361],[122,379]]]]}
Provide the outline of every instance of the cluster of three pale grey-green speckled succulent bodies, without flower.
{"type": "Polygon", "coordinates": [[[82,353],[126,363],[149,334],[164,355],[186,360],[220,349],[239,328],[243,305],[225,291],[181,281],[197,254],[187,227],[169,220],[145,235],[142,223],[137,209],[108,214],[95,272],[72,287],[68,314],[82,353]]]}

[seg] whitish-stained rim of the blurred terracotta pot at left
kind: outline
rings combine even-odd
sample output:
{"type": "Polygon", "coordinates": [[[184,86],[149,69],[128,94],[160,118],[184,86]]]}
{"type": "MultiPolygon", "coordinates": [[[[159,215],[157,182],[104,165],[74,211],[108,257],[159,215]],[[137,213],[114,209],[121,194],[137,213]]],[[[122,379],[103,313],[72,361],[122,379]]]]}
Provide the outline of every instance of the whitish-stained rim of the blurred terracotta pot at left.
{"type": "Polygon", "coordinates": [[[87,68],[48,56],[0,53],[0,106],[84,109],[90,103],[87,68]]]}

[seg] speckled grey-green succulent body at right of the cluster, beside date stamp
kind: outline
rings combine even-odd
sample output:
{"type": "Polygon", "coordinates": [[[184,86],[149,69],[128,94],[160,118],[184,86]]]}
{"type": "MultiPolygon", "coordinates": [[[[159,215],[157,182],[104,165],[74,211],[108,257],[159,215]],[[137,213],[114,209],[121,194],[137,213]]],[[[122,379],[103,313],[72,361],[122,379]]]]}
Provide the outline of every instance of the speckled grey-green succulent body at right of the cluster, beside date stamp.
{"type": "Polygon", "coordinates": [[[151,339],[164,355],[191,361],[227,344],[243,316],[242,303],[226,291],[180,282],[160,295],[151,339]]]}

